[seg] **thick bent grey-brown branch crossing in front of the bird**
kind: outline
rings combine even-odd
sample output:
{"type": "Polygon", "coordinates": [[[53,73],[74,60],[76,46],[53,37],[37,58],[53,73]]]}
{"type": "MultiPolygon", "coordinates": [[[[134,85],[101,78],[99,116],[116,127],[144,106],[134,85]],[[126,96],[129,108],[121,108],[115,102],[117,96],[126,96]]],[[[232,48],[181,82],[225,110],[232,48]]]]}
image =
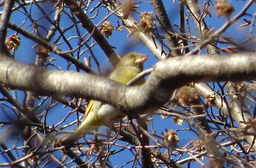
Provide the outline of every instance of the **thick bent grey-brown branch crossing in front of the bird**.
{"type": "Polygon", "coordinates": [[[188,82],[254,80],[255,52],[233,56],[187,56],[159,61],[146,83],[131,87],[103,77],[72,71],[46,70],[0,57],[0,82],[39,95],[89,97],[129,115],[154,111],[171,92],[188,82]]]}

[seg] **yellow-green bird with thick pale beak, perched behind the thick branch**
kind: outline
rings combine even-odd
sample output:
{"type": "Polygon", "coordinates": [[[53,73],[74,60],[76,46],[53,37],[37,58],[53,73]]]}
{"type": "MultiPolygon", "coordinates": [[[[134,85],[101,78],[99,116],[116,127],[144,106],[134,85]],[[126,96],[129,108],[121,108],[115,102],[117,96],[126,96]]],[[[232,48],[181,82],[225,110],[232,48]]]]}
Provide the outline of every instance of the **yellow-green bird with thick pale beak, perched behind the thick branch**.
{"type": "MultiPolygon", "coordinates": [[[[143,63],[147,60],[148,55],[131,52],[120,59],[116,68],[108,76],[109,79],[116,80],[120,83],[127,83],[132,80],[143,70],[143,63]]],[[[138,80],[134,85],[140,85],[145,82],[144,78],[138,80]]],[[[100,126],[113,126],[114,123],[122,121],[125,114],[119,109],[92,100],[84,115],[80,126],[70,134],[70,136],[60,142],[61,145],[72,145],[77,139],[90,133],[100,126]]]]}

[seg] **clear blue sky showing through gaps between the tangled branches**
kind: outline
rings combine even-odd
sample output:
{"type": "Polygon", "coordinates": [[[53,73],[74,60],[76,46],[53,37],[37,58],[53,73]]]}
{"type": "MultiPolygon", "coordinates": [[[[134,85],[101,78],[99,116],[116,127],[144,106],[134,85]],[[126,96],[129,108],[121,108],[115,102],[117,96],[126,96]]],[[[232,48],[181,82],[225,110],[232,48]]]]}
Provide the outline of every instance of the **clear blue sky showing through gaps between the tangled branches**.
{"type": "MultiPolygon", "coordinates": [[[[136,1],[136,2],[139,2],[139,1],[136,1]]],[[[164,2],[168,17],[169,17],[172,25],[173,24],[179,25],[180,24],[180,21],[179,21],[179,8],[180,8],[179,7],[179,2],[177,1],[175,3],[172,3],[171,0],[164,0],[163,2],[164,2]]],[[[200,6],[201,12],[202,12],[202,9],[203,9],[203,2],[204,1],[201,1],[201,0],[199,1],[199,4],[201,5],[200,6]]],[[[231,18],[235,14],[237,14],[237,12],[239,12],[242,9],[244,4],[247,3],[247,1],[230,1],[230,2],[236,9],[236,11],[233,12],[231,18]]],[[[205,18],[205,22],[207,23],[207,26],[209,26],[211,28],[214,27],[214,28],[216,28],[216,30],[218,30],[227,21],[227,19],[225,17],[221,17],[219,19],[217,18],[217,13],[215,11],[215,1],[212,1],[212,3],[213,3],[213,7],[210,10],[210,12],[212,14],[212,18],[210,18],[209,15],[208,15],[205,18]]],[[[98,1],[93,2],[91,4],[90,8],[92,8],[96,4],[98,4],[98,1]]],[[[44,4],[40,4],[40,5],[48,13],[53,10],[53,5],[51,3],[44,3],[44,4]]],[[[144,3],[140,3],[139,5],[140,5],[140,7],[137,8],[136,10],[138,10],[140,12],[153,11],[153,7],[149,3],[144,2],[144,3]]],[[[1,10],[2,9],[3,9],[3,6],[1,7],[1,10]]],[[[248,10],[247,13],[255,14],[255,12],[256,12],[255,9],[256,9],[255,4],[253,4],[252,7],[248,10]]],[[[11,16],[11,21],[14,22],[17,25],[23,24],[24,19],[27,18],[27,16],[24,14],[24,11],[22,9],[19,9],[19,10],[20,11],[13,12],[12,16],[11,16]]],[[[185,11],[186,10],[187,9],[185,9],[185,11]]],[[[43,14],[37,9],[37,7],[35,5],[33,5],[31,7],[31,13],[32,13],[33,19],[41,18],[37,21],[38,24],[43,25],[47,30],[49,29],[49,27],[51,27],[51,24],[48,21],[46,21],[45,18],[43,18],[43,14]]],[[[93,15],[95,15],[95,13],[96,13],[96,11],[93,11],[92,13],[87,12],[86,14],[89,17],[92,17],[93,15]]],[[[98,16],[95,17],[95,19],[92,19],[92,22],[95,25],[98,24],[106,16],[106,14],[107,14],[107,10],[104,7],[101,7],[100,10],[99,10],[98,16]]],[[[188,15],[188,12],[186,12],[186,14],[188,15]]],[[[49,15],[49,17],[52,18],[53,15],[54,15],[54,12],[52,12],[49,15]]],[[[138,18],[139,18],[140,15],[138,13],[132,12],[132,16],[136,20],[139,20],[138,18]]],[[[155,14],[153,14],[153,16],[155,16],[155,14]]],[[[252,20],[251,16],[244,16],[243,18],[246,18],[247,20],[252,20]]],[[[117,25],[116,20],[119,20],[119,19],[115,15],[112,15],[108,19],[108,21],[110,21],[113,26],[117,25]]],[[[245,22],[242,20],[242,18],[239,19],[234,25],[230,26],[228,28],[228,30],[223,35],[232,37],[234,39],[234,41],[237,42],[237,43],[244,41],[245,39],[250,37],[250,34],[249,34],[250,27],[249,26],[239,28],[239,25],[244,24],[244,23],[245,22]]],[[[69,20],[69,18],[65,14],[63,14],[63,16],[60,20],[60,28],[69,27],[71,24],[72,24],[72,22],[69,20]]],[[[199,35],[198,31],[195,29],[195,25],[192,22],[191,17],[189,19],[189,24],[190,24],[191,33],[193,35],[199,35]]],[[[28,27],[27,30],[29,30],[29,31],[32,31],[34,29],[31,26],[31,22],[29,20],[26,20],[22,27],[28,27]]],[[[80,25],[80,27],[81,27],[81,25],[80,25]]],[[[173,28],[176,31],[179,31],[179,29],[177,27],[173,26],[173,28]]],[[[47,32],[43,28],[41,28],[39,30],[40,30],[40,33],[42,35],[44,35],[44,36],[46,35],[47,32]]],[[[138,39],[135,36],[127,37],[127,35],[129,34],[128,31],[125,28],[123,28],[123,30],[124,30],[124,32],[120,32],[118,30],[113,31],[112,36],[107,39],[108,42],[110,43],[110,45],[112,45],[116,48],[114,50],[120,56],[124,56],[126,53],[131,52],[131,51],[136,51],[138,53],[148,54],[149,58],[144,64],[144,69],[151,68],[158,60],[154,57],[154,55],[140,41],[138,41],[138,39]]],[[[186,27],[186,32],[188,32],[187,30],[188,29],[186,27]]],[[[81,31],[81,34],[84,34],[84,33],[87,32],[84,28],[81,28],[80,31],[81,31]]],[[[255,28],[254,28],[254,32],[255,32],[255,28]]],[[[14,33],[15,32],[11,30],[11,31],[8,32],[7,36],[10,36],[11,34],[14,34],[14,33]]],[[[162,34],[162,33],[160,32],[160,34],[162,34]]],[[[31,41],[31,40],[28,40],[27,38],[25,38],[21,34],[18,34],[18,35],[21,37],[21,40],[20,40],[20,47],[15,52],[15,59],[20,63],[34,64],[35,56],[36,56],[35,52],[36,52],[37,48],[32,49],[32,47],[36,43],[31,41]]],[[[65,35],[66,35],[66,37],[75,37],[75,36],[77,36],[75,27],[73,27],[72,29],[67,31],[65,33],[65,35]]],[[[54,42],[56,40],[56,37],[57,36],[55,36],[51,40],[51,42],[54,42]]],[[[88,37],[88,35],[86,35],[86,37],[88,37]]],[[[86,37],[84,39],[86,39],[86,37]]],[[[62,41],[63,40],[60,40],[59,42],[62,42],[62,41]]],[[[73,47],[76,47],[78,39],[74,38],[74,39],[71,39],[69,42],[72,44],[73,47]]],[[[91,43],[92,43],[92,40],[90,42],[88,42],[89,45],[91,43]]],[[[255,50],[255,41],[245,43],[244,45],[246,47],[249,47],[249,48],[252,48],[252,49],[255,50]]],[[[65,43],[63,43],[61,45],[58,45],[58,47],[62,50],[68,50],[68,47],[65,43]]],[[[218,47],[226,47],[226,45],[225,44],[218,45],[218,47]]],[[[85,50],[85,49],[86,49],[86,47],[83,46],[82,49],[80,50],[80,52],[82,50],[85,50]]],[[[100,62],[100,68],[101,68],[101,71],[103,72],[103,74],[105,74],[104,72],[106,70],[109,72],[109,69],[111,69],[112,66],[108,62],[107,57],[104,54],[104,52],[97,45],[93,46],[92,50],[93,50],[95,56],[97,57],[98,61],[100,62]]],[[[63,70],[68,69],[66,60],[64,60],[60,56],[57,56],[57,55],[53,54],[52,52],[50,54],[51,55],[50,55],[49,58],[54,57],[54,58],[57,59],[56,61],[52,62],[53,64],[62,67],[63,70]]],[[[202,50],[201,54],[206,54],[205,50],[202,50]]],[[[225,54],[225,53],[221,53],[221,54],[225,54]]],[[[76,56],[76,55],[77,55],[77,52],[74,52],[74,56],[76,56]]],[[[80,60],[82,62],[84,62],[84,58],[88,58],[89,56],[90,56],[90,53],[88,51],[86,51],[82,55],[80,60]]],[[[97,66],[93,62],[93,60],[92,60],[91,65],[92,65],[92,68],[95,71],[97,71],[97,66]]],[[[48,68],[58,70],[57,68],[55,68],[53,66],[48,66],[48,68]]],[[[76,68],[75,68],[74,65],[71,65],[69,70],[76,71],[76,68]]],[[[105,75],[107,75],[107,74],[105,74],[105,75]]],[[[16,92],[15,91],[10,91],[10,93],[12,93],[12,95],[16,95],[17,99],[19,100],[20,103],[23,102],[23,99],[24,99],[24,92],[23,91],[16,91],[16,92]]],[[[45,97],[42,97],[41,100],[36,100],[36,105],[41,103],[44,98],[45,97]]],[[[2,102],[2,103],[4,103],[4,102],[2,102]]],[[[46,100],[45,103],[37,110],[37,114],[42,114],[44,112],[45,108],[48,106],[48,103],[49,103],[49,99],[46,100]]],[[[68,111],[71,110],[68,107],[67,108],[62,108],[62,107],[63,107],[62,104],[58,104],[50,110],[50,112],[48,113],[48,117],[47,117],[48,125],[55,125],[56,123],[60,122],[68,114],[68,111]]],[[[217,110],[217,109],[214,108],[214,110],[217,110]]],[[[13,112],[8,111],[6,108],[2,108],[2,112],[0,113],[0,120],[1,121],[10,121],[10,119],[13,118],[13,117],[15,118],[15,115],[13,114],[13,112]],[[8,113],[8,117],[6,117],[6,113],[8,113]]],[[[169,119],[162,119],[161,116],[159,116],[159,115],[155,115],[153,117],[155,118],[154,119],[154,128],[157,130],[156,133],[158,135],[161,134],[161,132],[165,132],[165,128],[174,129],[174,130],[188,128],[188,124],[187,124],[186,121],[184,121],[184,123],[181,126],[180,125],[177,126],[176,123],[172,122],[172,118],[171,119],[170,118],[169,119]]],[[[68,118],[67,123],[70,122],[70,121],[74,121],[74,120],[76,120],[76,116],[72,115],[68,118]]],[[[149,127],[149,132],[152,132],[151,124],[149,124],[148,127],[149,127]]],[[[73,126],[73,128],[75,128],[75,125],[73,126]]],[[[100,131],[104,132],[105,129],[106,129],[106,127],[103,127],[103,128],[100,129],[100,131]]],[[[4,131],[6,131],[6,127],[2,128],[0,130],[1,130],[0,132],[3,134],[4,131]]],[[[68,130],[70,130],[70,129],[68,129],[68,130]]],[[[178,145],[180,147],[184,146],[185,144],[187,144],[191,140],[195,140],[195,139],[197,140],[198,139],[196,137],[196,135],[193,134],[191,131],[186,131],[186,130],[178,131],[177,134],[180,138],[180,141],[178,143],[178,145]]],[[[90,135],[88,135],[86,138],[89,139],[90,135]]],[[[16,139],[12,138],[11,141],[12,141],[12,143],[14,143],[16,141],[16,139]]],[[[7,143],[9,143],[9,142],[7,142],[7,143]]],[[[23,142],[17,142],[17,143],[22,144],[23,142]]],[[[120,141],[119,141],[119,143],[123,144],[123,145],[127,144],[125,142],[120,142],[120,141]]],[[[152,141],[151,141],[151,143],[153,144],[152,141]]],[[[112,149],[120,150],[120,148],[118,148],[118,147],[113,147],[112,149]]],[[[131,153],[129,151],[126,151],[126,150],[127,149],[125,149],[122,152],[121,155],[114,155],[114,156],[110,157],[110,160],[112,161],[113,166],[121,167],[124,164],[122,159],[120,159],[120,156],[124,157],[125,160],[129,160],[129,158],[130,158],[130,160],[132,160],[133,155],[131,155],[131,153]],[[128,159],[126,159],[126,158],[128,158],[128,159]]],[[[163,153],[164,153],[164,150],[165,149],[161,149],[161,151],[163,153]]],[[[62,157],[62,155],[60,155],[60,152],[59,153],[56,152],[54,155],[56,157],[62,157]]],[[[187,155],[184,154],[184,156],[182,158],[184,158],[186,156],[187,155]]],[[[7,162],[6,157],[4,157],[4,155],[2,155],[2,156],[0,155],[0,163],[3,163],[3,162],[7,162]]],[[[207,160],[204,161],[204,163],[207,163],[207,160]]],[[[198,166],[197,163],[196,163],[196,165],[198,166]]],[[[48,167],[51,167],[51,166],[54,166],[54,165],[50,164],[48,167]]],[[[125,167],[128,168],[128,167],[131,167],[131,166],[132,166],[132,163],[127,164],[125,167]]],[[[185,164],[184,166],[187,166],[187,164],[185,164]]],[[[70,167],[70,166],[68,166],[68,167],[70,167]]],[[[140,167],[140,166],[138,165],[138,167],[140,167]]]]}

